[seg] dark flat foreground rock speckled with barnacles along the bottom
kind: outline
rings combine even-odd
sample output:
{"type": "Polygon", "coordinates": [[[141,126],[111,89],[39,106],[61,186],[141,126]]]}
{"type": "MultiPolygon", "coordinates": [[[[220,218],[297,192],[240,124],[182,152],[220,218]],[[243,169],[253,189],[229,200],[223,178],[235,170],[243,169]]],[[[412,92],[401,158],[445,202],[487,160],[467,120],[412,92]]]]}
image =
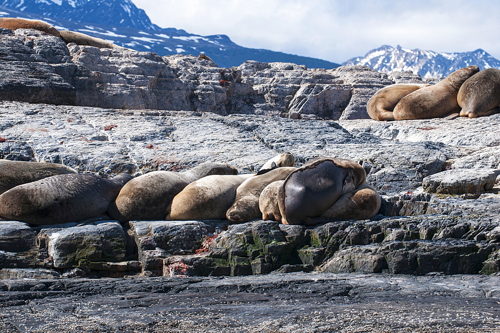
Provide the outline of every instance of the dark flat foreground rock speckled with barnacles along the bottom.
{"type": "Polygon", "coordinates": [[[3,280],[0,329],[493,333],[500,325],[499,284],[497,276],[328,273],[3,280]]]}

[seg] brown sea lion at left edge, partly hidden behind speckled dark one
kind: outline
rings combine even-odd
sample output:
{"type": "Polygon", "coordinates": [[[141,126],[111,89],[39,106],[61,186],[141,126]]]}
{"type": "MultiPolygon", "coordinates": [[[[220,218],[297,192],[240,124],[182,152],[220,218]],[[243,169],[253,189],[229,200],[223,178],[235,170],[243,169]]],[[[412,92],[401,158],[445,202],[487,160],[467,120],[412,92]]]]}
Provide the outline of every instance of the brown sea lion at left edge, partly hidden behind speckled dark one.
{"type": "Polygon", "coordinates": [[[62,164],[0,160],[0,194],[18,185],[69,173],[76,171],[62,164]]]}

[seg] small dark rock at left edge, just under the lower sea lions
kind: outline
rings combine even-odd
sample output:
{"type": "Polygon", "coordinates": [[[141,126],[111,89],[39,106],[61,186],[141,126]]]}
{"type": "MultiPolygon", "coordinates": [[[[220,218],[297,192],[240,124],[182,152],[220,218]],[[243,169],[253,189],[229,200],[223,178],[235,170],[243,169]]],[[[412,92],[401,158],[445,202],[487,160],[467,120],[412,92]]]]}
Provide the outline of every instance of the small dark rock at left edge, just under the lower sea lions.
{"type": "Polygon", "coordinates": [[[36,231],[27,223],[0,221],[0,251],[26,252],[35,247],[36,231]]]}

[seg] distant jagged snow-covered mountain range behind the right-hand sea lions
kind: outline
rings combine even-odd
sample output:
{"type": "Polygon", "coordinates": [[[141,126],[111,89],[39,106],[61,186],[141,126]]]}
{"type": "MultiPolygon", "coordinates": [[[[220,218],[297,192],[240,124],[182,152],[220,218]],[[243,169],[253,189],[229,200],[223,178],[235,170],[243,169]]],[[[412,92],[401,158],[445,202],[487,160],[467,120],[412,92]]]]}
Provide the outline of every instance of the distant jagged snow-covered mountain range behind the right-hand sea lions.
{"type": "Polygon", "coordinates": [[[352,58],[342,65],[365,65],[384,73],[411,71],[427,79],[445,77],[472,65],[479,66],[481,70],[500,68],[500,61],[481,49],[463,53],[437,53],[403,49],[399,45],[396,48],[383,45],[369,51],[364,57],[352,58]]]}

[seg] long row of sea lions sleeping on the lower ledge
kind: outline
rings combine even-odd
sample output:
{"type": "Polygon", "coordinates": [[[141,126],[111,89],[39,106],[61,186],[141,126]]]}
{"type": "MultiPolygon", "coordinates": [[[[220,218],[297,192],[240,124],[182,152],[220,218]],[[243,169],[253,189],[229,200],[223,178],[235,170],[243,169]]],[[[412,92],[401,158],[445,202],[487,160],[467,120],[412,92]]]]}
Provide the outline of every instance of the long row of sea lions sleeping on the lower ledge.
{"type": "Polygon", "coordinates": [[[380,196],[365,183],[358,163],[319,157],[299,168],[294,164],[286,152],[255,174],[207,162],[184,172],[104,179],[60,164],[0,160],[0,219],[50,225],[107,214],[121,223],[264,219],[314,225],[378,212],[380,196]]]}

